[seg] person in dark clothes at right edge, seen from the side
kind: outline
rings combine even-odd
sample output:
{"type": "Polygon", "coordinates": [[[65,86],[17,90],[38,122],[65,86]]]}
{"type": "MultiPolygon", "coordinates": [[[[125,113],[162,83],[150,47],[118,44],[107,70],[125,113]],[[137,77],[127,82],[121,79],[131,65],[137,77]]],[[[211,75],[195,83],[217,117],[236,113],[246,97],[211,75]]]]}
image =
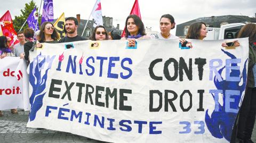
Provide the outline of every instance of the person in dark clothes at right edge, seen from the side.
{"type": "MultiPolygon", "coordinates": [[[[249,37],[249,64],[247,84],[243,103],[238,113],[236,137],[238,142],[253,142],[252,131],[256,115],[256,24],[246,24],[238,33],[237,38],[249,37]]],[[[233,129],[233,133],[236,132],[233,129]]]]}

